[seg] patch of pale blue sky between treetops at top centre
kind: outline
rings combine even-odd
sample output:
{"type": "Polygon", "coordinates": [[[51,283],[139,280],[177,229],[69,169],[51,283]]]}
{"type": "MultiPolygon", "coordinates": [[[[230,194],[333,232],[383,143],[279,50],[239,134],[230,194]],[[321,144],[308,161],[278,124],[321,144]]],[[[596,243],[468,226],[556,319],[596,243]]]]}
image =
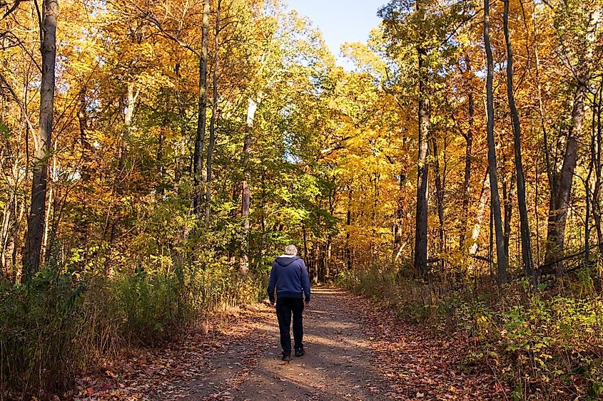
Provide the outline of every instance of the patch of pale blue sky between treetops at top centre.
{"type": "Polygon", "coordinates": [[[340,57],[340,46],[345,42],[366,42],[368,33],[379,25],[377,9],[387,0],[288,0],[289,8],[307,16],[323,31],[327,46],[340,57]]]}

